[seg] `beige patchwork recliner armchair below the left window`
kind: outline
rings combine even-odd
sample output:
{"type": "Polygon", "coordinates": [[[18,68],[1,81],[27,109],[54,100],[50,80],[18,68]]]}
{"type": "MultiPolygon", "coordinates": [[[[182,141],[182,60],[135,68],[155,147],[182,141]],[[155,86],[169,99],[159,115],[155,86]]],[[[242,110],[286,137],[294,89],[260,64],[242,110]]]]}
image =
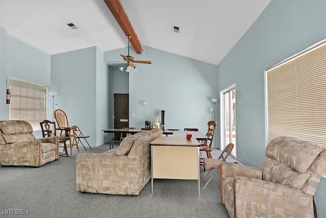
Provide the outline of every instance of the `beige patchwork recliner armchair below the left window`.
{"type": "Polygon", "coordinates": [[[32,132],[24,120],[0,120],[1,165],[37,167],[59,159],[59,138],[35,139],[32,132]]]}

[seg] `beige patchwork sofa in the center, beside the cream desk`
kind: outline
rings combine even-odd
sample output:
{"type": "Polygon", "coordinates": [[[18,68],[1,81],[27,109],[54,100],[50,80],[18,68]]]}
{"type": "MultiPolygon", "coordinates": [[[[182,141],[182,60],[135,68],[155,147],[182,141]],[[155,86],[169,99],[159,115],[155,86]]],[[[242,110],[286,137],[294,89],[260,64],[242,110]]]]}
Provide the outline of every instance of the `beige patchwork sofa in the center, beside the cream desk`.
{"type": "Polygon", "coordinates": [[[79,154],[76,159],[77,191],[139,195],[151,178],[149,143],[162,133],[161,129],[152,129],[127,136],[118,148],[101,154],[79,154]]]}

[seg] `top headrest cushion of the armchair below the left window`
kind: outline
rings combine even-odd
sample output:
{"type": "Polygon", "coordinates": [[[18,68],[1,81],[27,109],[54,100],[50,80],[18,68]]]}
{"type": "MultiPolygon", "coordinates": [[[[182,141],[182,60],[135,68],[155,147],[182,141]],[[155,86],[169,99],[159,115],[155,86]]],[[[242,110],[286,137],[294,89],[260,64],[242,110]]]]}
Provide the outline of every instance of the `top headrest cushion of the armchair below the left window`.
{"type": "Polygon", "coordinates": [[[33,132],[31,124],[25,120],[0,120],[0,129],[6,135],[33,132]]]}

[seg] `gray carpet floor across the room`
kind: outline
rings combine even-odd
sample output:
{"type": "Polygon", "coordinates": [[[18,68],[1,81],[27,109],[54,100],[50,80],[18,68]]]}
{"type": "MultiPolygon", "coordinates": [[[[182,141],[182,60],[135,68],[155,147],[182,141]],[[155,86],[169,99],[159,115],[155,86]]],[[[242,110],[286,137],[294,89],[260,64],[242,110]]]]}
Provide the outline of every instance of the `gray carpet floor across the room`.
{"type": "MultiPolygon", "coordinates": [[[[79,148],[79,153],[102,153],[108,144],[79,148]]],[[[213,151],[213,158],[220,150],[213,151]]],[[[139,196],[103,195],[76,191],[76,156],[47,163],[41,167],[0,166],[0,209],[2,217],[229,217],[221,202],[220,175],[205,189],[197,180],[149,181],[139,196]]],[[[173,161],[173,160],[171,160],[173,161]]],[[[206,169],[207,172],[207,169],[206,169]]],[[[205,176],[201,166],[201,179],[205,176]]]]}

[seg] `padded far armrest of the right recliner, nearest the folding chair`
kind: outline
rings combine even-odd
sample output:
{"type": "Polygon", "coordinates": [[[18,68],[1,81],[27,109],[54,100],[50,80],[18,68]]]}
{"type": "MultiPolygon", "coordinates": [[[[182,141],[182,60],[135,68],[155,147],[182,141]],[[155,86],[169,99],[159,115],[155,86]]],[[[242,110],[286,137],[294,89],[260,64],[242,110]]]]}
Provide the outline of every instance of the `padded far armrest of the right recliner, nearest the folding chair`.
{"type": "Polygon", "coordinates": [[[221,166],[221,178],[244,176],[255,179],[262,179],[263,173],[260,168],[253,166],[239,165],[237,163],[224,162],[221,166]]]}

